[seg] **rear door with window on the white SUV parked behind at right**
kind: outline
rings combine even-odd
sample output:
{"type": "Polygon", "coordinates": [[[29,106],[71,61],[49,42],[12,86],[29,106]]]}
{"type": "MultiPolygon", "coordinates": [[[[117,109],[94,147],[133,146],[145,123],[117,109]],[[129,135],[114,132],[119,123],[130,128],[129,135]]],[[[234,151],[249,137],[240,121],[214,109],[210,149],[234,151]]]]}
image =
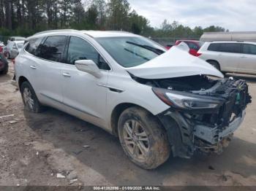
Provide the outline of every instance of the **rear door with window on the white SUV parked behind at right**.
{"type": "Polygon", "coordinates": [[[218,52],[221,70],[236,72],[241,60],[241,43],[219,43],[218,52]]]}

